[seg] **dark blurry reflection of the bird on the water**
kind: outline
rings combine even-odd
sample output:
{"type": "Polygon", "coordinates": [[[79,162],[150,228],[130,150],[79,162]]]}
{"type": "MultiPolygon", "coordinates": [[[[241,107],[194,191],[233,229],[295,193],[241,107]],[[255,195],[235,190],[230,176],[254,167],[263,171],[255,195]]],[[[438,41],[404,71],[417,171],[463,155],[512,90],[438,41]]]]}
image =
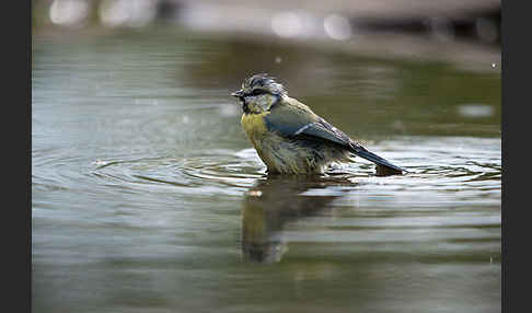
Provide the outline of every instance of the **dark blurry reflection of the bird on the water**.
{"type": "Polygon", "coordinates": [[[287,223],[317,216],[342,196],[323,193],[334,185],[354,183],[342,177],[268,176],[247,190],[242,211],[242,256],[255,263],[275,263],[288,251],[282,231],[287,223]],[[321,190],[321,193],[317,193],[321,190]]]}

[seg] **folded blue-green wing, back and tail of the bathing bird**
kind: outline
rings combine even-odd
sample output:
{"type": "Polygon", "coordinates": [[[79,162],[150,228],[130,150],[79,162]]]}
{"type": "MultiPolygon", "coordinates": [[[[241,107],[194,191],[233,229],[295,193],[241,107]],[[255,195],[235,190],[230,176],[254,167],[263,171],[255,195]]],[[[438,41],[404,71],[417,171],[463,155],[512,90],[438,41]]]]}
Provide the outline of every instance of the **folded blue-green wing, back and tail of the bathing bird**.
{"type": "MultiPolygon", "coordinates": [[[[334,142],[355,153],[356,155],[371,161],[378,165],[389,167],[392,172],[403,172],[404,169],[396,166],[388,160],[368,151],[365,147],[354,141],[349,136],[337,129],[322,117],[314,114],[308,106],[291,100],[291,105],[279,105],[273,107],[270,114],[264,117],[266,127],[277,131],[286,138],[311,137],[328,142],[334,142]]],[[[388,172],[388,171],[386,171],[388,172]]]]}

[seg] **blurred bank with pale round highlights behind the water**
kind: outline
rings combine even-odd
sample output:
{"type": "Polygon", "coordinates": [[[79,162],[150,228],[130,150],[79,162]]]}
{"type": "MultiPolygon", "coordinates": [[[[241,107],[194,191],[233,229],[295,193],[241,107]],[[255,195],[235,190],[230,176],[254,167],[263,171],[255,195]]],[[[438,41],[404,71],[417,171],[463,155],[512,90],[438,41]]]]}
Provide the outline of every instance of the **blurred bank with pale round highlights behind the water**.
{"type": "Polygon", "coordinates": [[[464,66],[494,60],[500,50],[500,0],[32,2],[34,34],[50,26],[104,32],[165,24],[218,36],[343,43],[342,48],[357,53],[430,57],[464,66]]]}

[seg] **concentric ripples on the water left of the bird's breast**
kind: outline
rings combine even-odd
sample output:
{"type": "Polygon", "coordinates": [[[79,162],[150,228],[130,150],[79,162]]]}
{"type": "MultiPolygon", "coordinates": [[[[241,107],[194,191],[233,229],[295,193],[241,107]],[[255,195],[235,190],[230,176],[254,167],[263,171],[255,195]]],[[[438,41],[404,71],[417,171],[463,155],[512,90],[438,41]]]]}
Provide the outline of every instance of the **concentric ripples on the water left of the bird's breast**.
{"type": "Polygon", "coordinates": [[[96,160],[92,166],[90,175],[103,179],[104,184],[120,183],[131,188],[172,186],[184,193],[205,195],[241,194],[265,175],[264,165],[250,149],[210,151],[181,159],[96,160]]]}

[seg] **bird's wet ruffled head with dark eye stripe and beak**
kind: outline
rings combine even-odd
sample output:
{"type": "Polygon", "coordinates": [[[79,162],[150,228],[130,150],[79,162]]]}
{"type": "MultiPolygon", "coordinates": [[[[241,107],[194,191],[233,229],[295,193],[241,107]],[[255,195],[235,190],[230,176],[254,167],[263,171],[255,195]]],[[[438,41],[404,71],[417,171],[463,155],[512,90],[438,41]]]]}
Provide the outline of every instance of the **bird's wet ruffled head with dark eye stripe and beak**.
{"type": "Polygon", "coordinates": [[[250,114],[269,111],[287,94],[285,86],[266,73],[252,76],[244,80],[241,90],[231,93],[232,96],[240,98],[244,113],[250,114]]]}

